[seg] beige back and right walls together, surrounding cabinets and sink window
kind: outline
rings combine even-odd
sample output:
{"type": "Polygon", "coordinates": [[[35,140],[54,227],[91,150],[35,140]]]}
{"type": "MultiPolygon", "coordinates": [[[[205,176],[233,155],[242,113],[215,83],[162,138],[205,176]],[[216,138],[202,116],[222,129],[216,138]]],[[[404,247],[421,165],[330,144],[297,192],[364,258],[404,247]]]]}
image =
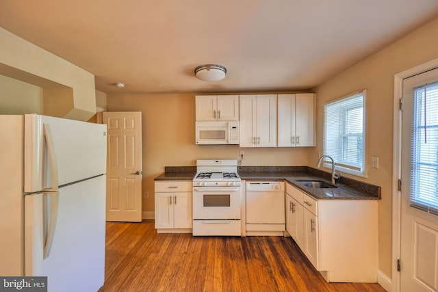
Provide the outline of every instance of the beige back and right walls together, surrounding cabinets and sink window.
{"type": "MultiPolygon", "coordinates": [[[[391,215],[394,75],[438,58],[438,18],[391,46],[364,59],[315,88],[317,124],[315,148],[239,148],[194,144],[195,94],[109,94],[109,111],[142,111],[143,188],[153,194],[153,178],[166,165],[194,165],[198,158],[238,158],[245,151],[244,165],[315,165],[322,152],[324,103],[367,89],[366,164],[361,181],[382,187],[378,211],[379,269],[391,278],[391,215]],[[370,168],[372,156],[380,167],[370,168]]],[[[153,211],[153,196],[144,201],[144,211],[153,211]]]]}

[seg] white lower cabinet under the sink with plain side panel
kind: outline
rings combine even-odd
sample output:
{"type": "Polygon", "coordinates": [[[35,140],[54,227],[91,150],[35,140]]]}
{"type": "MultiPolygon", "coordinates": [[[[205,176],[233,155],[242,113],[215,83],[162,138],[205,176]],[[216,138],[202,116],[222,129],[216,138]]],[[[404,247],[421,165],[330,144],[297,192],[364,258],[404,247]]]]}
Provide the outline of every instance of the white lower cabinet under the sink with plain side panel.
{"type": "Polygon", "coordinates": [[[377,281],[377,200],[315,200],[287,183],[286,203],[287,232],[328,282],[377,281]]]}

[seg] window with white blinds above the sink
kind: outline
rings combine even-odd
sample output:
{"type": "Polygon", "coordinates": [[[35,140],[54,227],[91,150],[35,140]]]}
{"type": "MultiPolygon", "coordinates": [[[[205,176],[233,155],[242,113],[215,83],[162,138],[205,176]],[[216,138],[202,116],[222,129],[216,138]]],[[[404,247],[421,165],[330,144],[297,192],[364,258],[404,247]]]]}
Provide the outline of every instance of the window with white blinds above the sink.
{"type": "Polygon", "coordinates": [[[340,172],[365,174],[364,117],[365,90],[324,105],[324,155],[335,160],[340,172]]]}

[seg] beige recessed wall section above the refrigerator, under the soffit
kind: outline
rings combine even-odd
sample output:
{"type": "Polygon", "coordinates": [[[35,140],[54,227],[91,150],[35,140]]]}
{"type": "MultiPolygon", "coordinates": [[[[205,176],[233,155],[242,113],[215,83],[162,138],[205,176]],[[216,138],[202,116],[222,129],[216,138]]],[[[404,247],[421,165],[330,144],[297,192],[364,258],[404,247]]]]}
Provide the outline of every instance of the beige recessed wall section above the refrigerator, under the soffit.
{"type": "Polygon", "coordinates": [[[42,113],[42,88],[0,75],[0,114],[42,113]]]}

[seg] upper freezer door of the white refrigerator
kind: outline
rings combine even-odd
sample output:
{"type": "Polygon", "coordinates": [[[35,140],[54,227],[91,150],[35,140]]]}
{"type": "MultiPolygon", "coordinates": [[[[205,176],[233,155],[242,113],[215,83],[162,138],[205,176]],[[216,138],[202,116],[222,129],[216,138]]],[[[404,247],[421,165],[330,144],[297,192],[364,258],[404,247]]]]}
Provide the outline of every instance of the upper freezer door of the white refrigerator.
{"type": "Polygon", "coordinates": [[[55,189],[53,169],[57,185],[105,174],[106,132],[105,124],[25,115],[24,191],[55,189]]]}

